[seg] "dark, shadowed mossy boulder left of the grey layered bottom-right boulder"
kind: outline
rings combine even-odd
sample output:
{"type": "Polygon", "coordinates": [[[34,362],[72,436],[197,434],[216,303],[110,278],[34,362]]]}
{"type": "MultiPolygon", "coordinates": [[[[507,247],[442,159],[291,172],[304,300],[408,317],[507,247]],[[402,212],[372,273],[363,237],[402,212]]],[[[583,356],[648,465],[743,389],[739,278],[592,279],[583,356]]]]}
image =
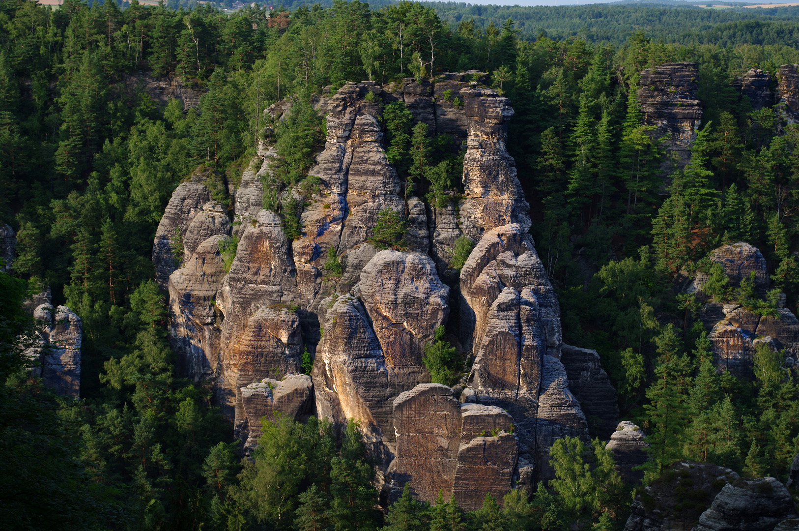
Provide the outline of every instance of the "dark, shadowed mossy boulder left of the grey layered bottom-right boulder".
{"type": "Polygon", "coordinates": [[[717,465],[678,461],[633,499],[624,531],[688,531],[721,487],[737,473],[717,465]]]}

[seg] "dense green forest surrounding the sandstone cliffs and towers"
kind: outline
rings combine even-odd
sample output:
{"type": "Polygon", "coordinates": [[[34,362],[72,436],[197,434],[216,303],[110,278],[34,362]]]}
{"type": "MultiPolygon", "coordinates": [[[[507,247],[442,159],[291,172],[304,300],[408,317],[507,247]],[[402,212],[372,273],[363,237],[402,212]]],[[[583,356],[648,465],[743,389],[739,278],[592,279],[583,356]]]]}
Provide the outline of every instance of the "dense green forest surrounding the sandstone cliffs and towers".
{"type": "MultiPolygon", "coordinates": [[[[699,294],[675,286],[702,273],[703,297],[759,316],[797,311],[799,126],[753,110],[733,87],[751,68],[774,79],[799,63],[797,8],[495,6],[495,23],[486,6],[454,3],[233,14],[172,3],[0,1],[0,222],[17,242],[0,273],[0,526],[606,531],[624,528],[633,497],[670,481],[675,461],[788,480],[799,374],[765,347],[749,377],[718,371],[699,294]],[[516,13],[528,17],[523,30],[516,13]],[[698,68],[702,123],[687,166],[670,160],[638,102],[642,70],[670,62],[698,68]],[[210,383],[175,371],[151,258],[173,191],[200,166],[240,182],[269,126],[276,162],[264,208],[299,238],[303,203],[280,191],[318,186],[308,170],[326,125],[314,95],[467,70],[487,73],[483,83],[515,110],[507,150],[563,341],[598,352],[621,418],[646,433],[642,481],[621,480],[605,442],[566,437],[551,449],[555,479],[529,496],[515,489],[463,511],[454,497],[427,503],[406,488],[381,507],[357,419],[338,431],[324,418],[267,423],[243,459],[210,383]],[[197,94],[196,105],[157,101],[153,80],[197,94]],[[287,97],[288,118],[265,123],[287,97]],[[741,241],[761,250],[768,290],[753,277],[732,285],[710,261],[741,241]],[[78,398],[30,373],[42,325],[23,302],[45,286],[82,321],[78,398]]],[[[463,151],[414,125],[401,102],[383,113],[406,198],[415,190],[440,206],[462,194],[463,151]]],[[[228,204],[227,190],[217,184],[213,199],[228,204]]],[[[403,223],[381,214],[375,245],[399,245],[403,223]]],[[[450,266],[463,267],[473,245],[459,242],[450,266]]],[[[222,253],[233,260],[235,243],[222,253]]],[[[325,268],[341,272],[335,253],[325,268]]],[[[443,331],[435,340],[425,362],[451,384],[465,360],[443,331]]]]}

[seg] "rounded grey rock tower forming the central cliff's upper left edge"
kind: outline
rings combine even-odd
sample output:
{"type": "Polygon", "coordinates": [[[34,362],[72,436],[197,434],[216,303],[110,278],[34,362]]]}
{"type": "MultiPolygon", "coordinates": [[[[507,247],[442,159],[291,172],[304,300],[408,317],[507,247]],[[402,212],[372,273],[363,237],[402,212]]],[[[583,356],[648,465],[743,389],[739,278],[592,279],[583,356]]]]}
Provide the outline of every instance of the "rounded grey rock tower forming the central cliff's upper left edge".
{"type": "MultiPolygon", "coordinates": [[[[158,223],[153,242],[153,266],[155,279],[161,289],[167,289],[169,275],[173,273],[185,256],[173,256],[172,242],[175,238],[184,238],[189,226],[209,202],[211,194],[205,186],[213,170],[201,166],[197,168],[185,182],[181,182],[169,199],[164,216],[158,223]]],[[[199,245],[200,242],[197,242],[199,245]]],[[[189,253],[193,252],[193,249],[189,253]]]]}

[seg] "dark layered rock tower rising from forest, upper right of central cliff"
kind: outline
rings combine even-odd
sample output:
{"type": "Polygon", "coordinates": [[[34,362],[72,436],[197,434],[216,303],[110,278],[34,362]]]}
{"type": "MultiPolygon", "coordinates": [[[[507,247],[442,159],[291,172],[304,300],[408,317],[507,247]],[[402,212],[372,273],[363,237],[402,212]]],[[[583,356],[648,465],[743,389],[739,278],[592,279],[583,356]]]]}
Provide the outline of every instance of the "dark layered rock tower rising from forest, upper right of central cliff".
{"type": "MultiPolygon", "coordinates": [[[[638,88],[638,102],[644,124],[654,126],[655,138],[669,133],[666,151],[678,158],[678,166],[690,161],[691,146],[702,122],[702,106],[697,99],[699,73],[696,63],[672,62],[643,70],[638,88]]],[[[663,163],[667,170],[670,162],[663,163]]]]}

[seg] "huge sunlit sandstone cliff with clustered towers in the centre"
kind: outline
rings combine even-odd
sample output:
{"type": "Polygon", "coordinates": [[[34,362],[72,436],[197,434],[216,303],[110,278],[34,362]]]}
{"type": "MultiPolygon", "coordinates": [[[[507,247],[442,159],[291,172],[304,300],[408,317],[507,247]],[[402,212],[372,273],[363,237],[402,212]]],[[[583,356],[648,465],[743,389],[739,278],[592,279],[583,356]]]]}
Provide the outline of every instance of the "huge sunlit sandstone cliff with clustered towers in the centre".
{"type": "MultiPolygon", "coordinates": [[[[327,120],[324,150],[310,170],[318,190],[281,192],[304,204],[299,238],[286,238],[280,218],[261,208],[274,156],[262,146],[229,190],[232,212],[215,210],[209,175],[198,172],[178,187],[153,259],[169,287],[181,367],[213,381],[247,452],[260,418],[274,411],[329,417],[336,430],[352,418],[376,457],[381,499],[408,483],[423,500],[443,489],[476,509],[486,492],[501,497],[552,477],[556,438],[587,440],[570,380],[592,418],[614,426],[618,409],[596,353],[570,351],[568,370],[561,362],[558,300],[527,232],[529,207],[505,147],[510,102],[472,86],[466,74],[447,76],[391,90],[347,83],[314,98],[327,120]],[[417,121],[467,143],[459,205],[426,206],[401,193],[380,105],[398,98],[417,121]],[[407,216],[402,249],[372,242],[387,209],[407,216]],[[225,273],[220,249],[231,233],[240,239],[225,273]],[[464,234],[476,245],[458,272],[449,261],[464,234]],[[177,270],[172,238],[184,247],[177,270]],[[341,273],[326,270],[331,253],[341,273]],[[455,389],[430,384],[423,362],[435,330],[452,320],[471,361],[455,389]],[[306,352],[310,380],[298,376],[306,352]]],[[[272,111],[291,112],[288,105],[272,111]]]]}

